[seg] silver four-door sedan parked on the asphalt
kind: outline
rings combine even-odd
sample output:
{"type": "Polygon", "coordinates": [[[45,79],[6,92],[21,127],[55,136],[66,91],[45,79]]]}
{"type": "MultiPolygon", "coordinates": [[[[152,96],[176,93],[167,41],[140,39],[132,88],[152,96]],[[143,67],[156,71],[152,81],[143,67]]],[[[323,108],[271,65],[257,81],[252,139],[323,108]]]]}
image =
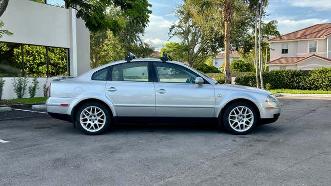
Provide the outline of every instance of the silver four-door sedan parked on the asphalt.
{"type": "Polygon", "coordinates": [[[247,134],[275,122],[281,112],[280,102],[266,90],[219,84],[177,61],[132,58],[53,80],[46,107],[50,116],[88,135],[138,120],[211,120],[232,134],[247,134]]]}

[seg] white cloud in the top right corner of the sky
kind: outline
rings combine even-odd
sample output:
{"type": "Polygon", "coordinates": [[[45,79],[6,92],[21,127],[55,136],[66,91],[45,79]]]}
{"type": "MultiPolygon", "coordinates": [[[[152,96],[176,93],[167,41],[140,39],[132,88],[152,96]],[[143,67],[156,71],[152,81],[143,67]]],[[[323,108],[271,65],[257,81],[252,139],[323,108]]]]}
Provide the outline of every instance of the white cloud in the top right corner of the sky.
{"type": "Polygon", "coordinates": [[[310,7],[317,11],[331,10],[330,0],[290,0],[289,3],[295,7],[310,7]]]}

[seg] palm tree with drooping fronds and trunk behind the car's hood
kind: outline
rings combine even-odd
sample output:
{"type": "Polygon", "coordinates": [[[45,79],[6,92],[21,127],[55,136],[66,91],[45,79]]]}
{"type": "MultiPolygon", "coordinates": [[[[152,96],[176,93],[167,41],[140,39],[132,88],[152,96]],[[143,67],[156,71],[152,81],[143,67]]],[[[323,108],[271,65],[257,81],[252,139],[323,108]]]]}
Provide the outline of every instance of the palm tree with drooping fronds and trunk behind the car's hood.
{"type": "Polygon", "coordinates": [[[238,11],[243,1],[240,0],[188,0],[192,5],[193,17],[198,22],[204,22],[208,16],[221,15],[221,22],[218,25],[220,32],[224,27],[224,76],[225,82],[231,83],[230,71],[230,22],[233,15],[238,11]]]}

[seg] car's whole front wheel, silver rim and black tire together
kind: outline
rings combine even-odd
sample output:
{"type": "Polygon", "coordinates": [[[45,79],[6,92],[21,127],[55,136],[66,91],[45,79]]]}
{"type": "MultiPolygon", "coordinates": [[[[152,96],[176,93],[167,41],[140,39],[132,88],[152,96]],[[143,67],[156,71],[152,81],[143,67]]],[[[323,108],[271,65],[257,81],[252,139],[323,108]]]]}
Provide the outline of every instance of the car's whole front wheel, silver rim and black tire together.
{"type": "Polygon", "coordinates": [[[224,111],[224,127],[232,134],[248,134],[257,125],[257,112],[255,107],[248,102],[233,102],[224,111]]]}

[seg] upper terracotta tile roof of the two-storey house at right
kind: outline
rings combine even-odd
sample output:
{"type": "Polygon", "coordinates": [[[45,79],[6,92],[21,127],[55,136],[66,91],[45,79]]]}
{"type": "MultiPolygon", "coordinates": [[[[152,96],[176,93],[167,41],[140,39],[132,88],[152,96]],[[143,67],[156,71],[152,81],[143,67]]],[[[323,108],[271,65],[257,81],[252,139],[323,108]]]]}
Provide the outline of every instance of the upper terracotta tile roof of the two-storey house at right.
{"type": "Polygon", "coordinates": [[[321,38],[331,34],[331,23],[313,25],[295,32],[282,35],[281,38],[275,37],[269,39],[269,42],[278,40],[295,40],[295,39],[307,39],[307,38],[321,38]]]}

